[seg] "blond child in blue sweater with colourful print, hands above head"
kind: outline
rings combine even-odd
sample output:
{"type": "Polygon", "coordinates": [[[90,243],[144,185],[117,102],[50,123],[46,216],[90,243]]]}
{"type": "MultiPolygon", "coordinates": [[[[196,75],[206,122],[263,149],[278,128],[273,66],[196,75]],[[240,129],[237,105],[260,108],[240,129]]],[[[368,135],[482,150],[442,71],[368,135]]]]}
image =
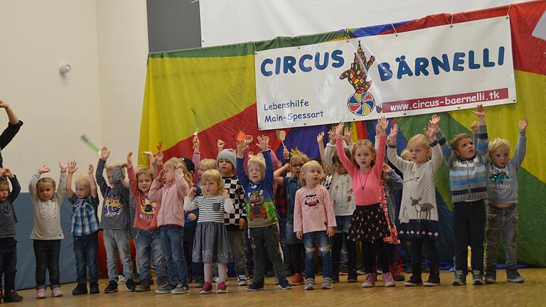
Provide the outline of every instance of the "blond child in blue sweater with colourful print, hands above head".
{"type": "Polygon", "coordinates": [[[244,154],[252,143],[252,136],[237,142],[237,178],[245,189],[245,206],[248,217],[255,275],[247,291],[264,289],[264,247],[271,259],[279,288],[291,289],[282,265],[279,251],[279,228],[277,212],[273,203],[273,160],[268,149],[269,138],[258,137],[263,156],[252,156],[248,160],[248,176],[245,173],[244,154]]]}

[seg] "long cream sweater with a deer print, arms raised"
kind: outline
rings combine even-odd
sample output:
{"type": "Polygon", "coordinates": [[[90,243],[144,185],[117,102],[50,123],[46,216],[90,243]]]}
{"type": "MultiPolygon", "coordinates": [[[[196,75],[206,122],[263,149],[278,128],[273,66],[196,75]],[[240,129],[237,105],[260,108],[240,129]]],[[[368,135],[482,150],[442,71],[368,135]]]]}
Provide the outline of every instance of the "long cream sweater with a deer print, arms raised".
{"type": "MultiPolygon", "coordinates": [[[[422,164],[400,158],[397,155],[396,144],[391,144],[387,149],[389,161],[404,174],[402,204],[399,214],[402,230],[404,224],[410,223],[412,228],[417,228],[412,229],[414,233],[417,231],[426,231],[428,233],[427,227],[424,227],[424,225],[431,221],[436,224],[438,222],[434,176],[441,165],[442,154],[437,141],[430,145],[432,147],[432,158],[422,164]],[[423,227],[425,229],[422,229],[423,227]]],[[[434,230],[434,232],[436,231],[434,230]]],[[[434,232],[432,232],[433,236],[434,232]]]]}

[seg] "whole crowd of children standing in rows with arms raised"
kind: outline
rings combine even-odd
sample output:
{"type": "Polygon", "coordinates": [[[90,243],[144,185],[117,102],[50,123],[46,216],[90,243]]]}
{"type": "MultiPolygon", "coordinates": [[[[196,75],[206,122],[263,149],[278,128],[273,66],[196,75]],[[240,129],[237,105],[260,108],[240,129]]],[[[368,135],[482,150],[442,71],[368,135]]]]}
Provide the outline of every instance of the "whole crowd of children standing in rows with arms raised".
{"type": "MultiPolygon", "coordinates": [[[[0,147],[4,148],[23,123],[1,100],[0,107],[9,116],[9,126],[0,136],[0,147]]],[[[312,290],[316,286],[317,254],[322,260],[321,289],[332,289],[340,281],[343,246],[348,258],[347,282],[358,281],[357,243],[362,247],[365,273],[362,287],[375,286],[379,270],[384,286],[390,287],[395,286],[395,281],[404,280],[404,276],[398,278],[395,252],[400,239],[410,241],[412,259],[412,276],[405,286],[439,286],[435,244],[439,237],[439,214],[434,184],[442,158],[449,166],[454,204],[456,252],[451,284],[466,284],[468,246],[472,251],[473,284],[496,282],[496,250],[501,232],[508,281],[523,282],[515,266],[516,172],[525,157],[527,119],[519,124],[520,137],[510,160],[508,141],[488,141],[481,105],[474,114],[478,122],[471,126],[473,136],[457,134],[449,144],[439,129],[440,117],[433,115],[424,134],[409,139],[402,157],[397,151],[397,125],[391,127],[387,136],[389,123],[380,118],[375,144],[369,140],[353,143],[350,130],[338,124],[329,132],[326,147],[323,147],[324,133],[318,136],[321,158],[309,159],[303,153],[290,157],[284,149],[286,164],[280,167],[269,147],[269,138],[257,136],[261,152],[252,154],[249,146],[254,138],[249,135],[237,141],[236,150],[223,149],[225,144],[219,140],[216,159],[201,160],[196,136],[192,159],[173,157],[164,161],[161,151],[155,155],[146,152],[149,165],[135,168],[130,152],[126,162],[107,164],[110,153],[107,147],[102,147],[95,173],[90,164],[85,174],[74,179],[78,169],[75,161],[59,163],[58,182],[45,177],[51,170],[41,166],[28,186],[34,208],[31,239],[36,255],[36,298],[46,297],[46,271],[51,296],[63,296],[59,254],[60,240],[64,238],[60,205],[65,194],[73,212],[70,232],[77,272],[73,295],[100,293],[97,279],[100,230],[108,268],[104,293],[118,291],[118,253],[127,291],[151,290],[153,264],[158,294],[189,293],[192,282],[193,287],[200,288],[200,294],[212,293],[213,276],[216,276],[215,293],[226,293],[230,262],[235,262],[239,286],[247,286],[247,291],[263,290],[267,261],[272,264],[275,283],[280,289],[304,284],[305,290],[312,290]],[[403,179],[389,164],[400,171],[403,179]],[[400,206],[392,198],[394,189],[402,189],[400,206]],[[97,190],[104,198],[101,212],[98,212],[97,190]],[[136,208],[132,208],[132,203],[136,208]],[[286,204],[285,212],[279,213],[276,203],[286,204]],[[138,274],[134,274],[130,255],[132,227],[137,230],[134,242],[138,274]],[[245,242],[250,242],[252,270],[247,265],[250,262],[245,242]],[[282,244],[288,252],[283,252],[282,244]],[[430,268],[425,283],[421,276],[423,245],[430,268]],[[285,263],[290,265],[287,267],[285,263]],[[252,282],[248,284],[251,271],[252,282]],[[290,281],[288,274],[293,274],[290,281]]],[[[14,172],[1,166],[1,162],[0,155],[0,277],[4,276],[5,287],[2,294],[4,302],[21,301],[14,291],[17,258],[14,201],[21,187],[14,172]]]]}

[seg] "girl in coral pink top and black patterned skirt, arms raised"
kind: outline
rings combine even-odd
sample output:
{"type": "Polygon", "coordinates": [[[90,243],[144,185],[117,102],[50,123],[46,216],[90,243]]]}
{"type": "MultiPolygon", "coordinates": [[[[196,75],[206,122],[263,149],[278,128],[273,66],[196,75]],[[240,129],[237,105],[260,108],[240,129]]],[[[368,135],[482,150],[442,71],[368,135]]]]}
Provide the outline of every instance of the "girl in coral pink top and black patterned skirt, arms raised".
{"type": "Polygon", "coordinates": [[[380,138],[377,156],[372,142],[360,140],[353,146],[350,160],[343,150],[343,123],[336,127],[336,150],[338,151],[339,161],[350,174],[350,178],[353,179],[356,208],[350,222],[348,237],[353,241],[360,240],[362,242],[363,259],[367,273],[362,284],[363,288],[375,286],[376,252],[379,255],[385,286],[395,286],[395,281],[389,272],[389,263],[382,240],[383,237],[390,236],[390,232],[387,228],[385,213],[380,207],[380,184],[382,165],[385,159],[387,119],[381,117],[379,125],[380,138]]]}

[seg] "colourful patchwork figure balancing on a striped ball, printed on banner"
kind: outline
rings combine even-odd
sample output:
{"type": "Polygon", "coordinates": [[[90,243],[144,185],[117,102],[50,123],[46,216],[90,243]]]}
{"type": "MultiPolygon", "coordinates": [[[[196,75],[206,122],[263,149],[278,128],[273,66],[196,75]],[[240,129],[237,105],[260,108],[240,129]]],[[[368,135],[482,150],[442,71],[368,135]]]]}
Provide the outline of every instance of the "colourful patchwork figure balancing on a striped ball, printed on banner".
{"type": "Polygon", "coordinates": [[[341,80],[347,79],[355,89],[355,93],[350,95],[347,100],[347,107],[355,115],[366,116],[373,111],[374,107],[378,113],[381,112],[381,107],[375,105],[373,95],[368,92],[372,86],[372,80],[367,80],[368,69],[373,65],[374,61],[375,57],[373,55],[370,56],[370,60],[366,58],[362,46],[360,46],[360,41],[358,41],[358,49],[355,52],[353,63],[350,64],[348,70],[339,76],[341,80]]]}

